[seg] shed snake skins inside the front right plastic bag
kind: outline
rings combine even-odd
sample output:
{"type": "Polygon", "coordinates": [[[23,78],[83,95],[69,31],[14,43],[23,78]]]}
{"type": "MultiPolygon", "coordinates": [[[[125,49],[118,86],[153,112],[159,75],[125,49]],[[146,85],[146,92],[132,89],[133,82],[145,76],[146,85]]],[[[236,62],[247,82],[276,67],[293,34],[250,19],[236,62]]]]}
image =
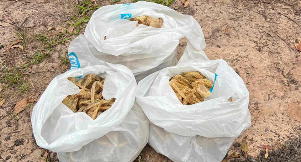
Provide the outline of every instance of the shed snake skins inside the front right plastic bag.
{"type": "Polygon", "coordinates": [[[169,85],[176,93],[178,100],[183,105],[191,105],[204,101],[204,97],[209,97],[212,82],[205,79],[198,71],[183,72],[183,75],[172,77],[169,85]]]}

